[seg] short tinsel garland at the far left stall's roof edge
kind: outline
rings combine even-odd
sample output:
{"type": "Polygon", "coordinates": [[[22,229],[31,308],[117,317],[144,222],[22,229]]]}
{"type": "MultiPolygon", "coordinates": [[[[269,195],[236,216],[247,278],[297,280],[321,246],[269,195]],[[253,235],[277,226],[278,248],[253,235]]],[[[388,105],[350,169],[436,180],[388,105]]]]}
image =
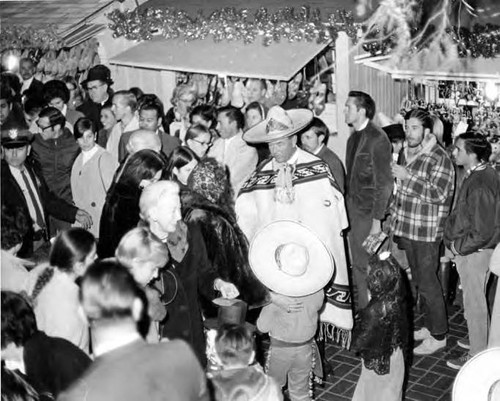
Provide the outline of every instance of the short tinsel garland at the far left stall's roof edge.
{"type": "Polygon", "coordinates": [[[40,49],[59,50],[62,47],[62,39],[57,34],[54,25],[34,29],[22,25],[2,27],[0,31],[0,49],[40,49]]]}

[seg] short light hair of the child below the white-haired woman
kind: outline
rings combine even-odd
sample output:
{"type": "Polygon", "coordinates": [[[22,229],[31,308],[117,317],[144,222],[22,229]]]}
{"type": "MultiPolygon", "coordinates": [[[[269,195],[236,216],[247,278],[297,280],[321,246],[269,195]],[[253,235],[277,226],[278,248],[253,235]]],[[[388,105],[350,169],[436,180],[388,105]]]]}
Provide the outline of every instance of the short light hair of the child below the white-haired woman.
{"type": "Polygon", "coordinates": [[[146,227],[137,227],[126,233],[116,248],[115,257],[128,269],[133,261],[152,261],[158,266],[168,262],[168,248],[146,227]]]}

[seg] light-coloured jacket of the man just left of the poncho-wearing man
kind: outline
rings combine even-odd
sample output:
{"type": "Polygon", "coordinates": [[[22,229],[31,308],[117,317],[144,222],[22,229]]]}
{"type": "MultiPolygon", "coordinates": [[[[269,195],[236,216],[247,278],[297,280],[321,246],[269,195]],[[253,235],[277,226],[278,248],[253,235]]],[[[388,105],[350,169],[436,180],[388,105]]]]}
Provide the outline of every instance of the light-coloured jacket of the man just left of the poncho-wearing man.
{"type": "Polygon", "coordinates": [[[230,138],[226,149],[227,140],[216,139],[208,156],[227,166],[229,180],[236,197],[243,183],[255,171],[259,157],[257,150],[243,140],[243,132],[240,131],[236,136],[230,138]]]}

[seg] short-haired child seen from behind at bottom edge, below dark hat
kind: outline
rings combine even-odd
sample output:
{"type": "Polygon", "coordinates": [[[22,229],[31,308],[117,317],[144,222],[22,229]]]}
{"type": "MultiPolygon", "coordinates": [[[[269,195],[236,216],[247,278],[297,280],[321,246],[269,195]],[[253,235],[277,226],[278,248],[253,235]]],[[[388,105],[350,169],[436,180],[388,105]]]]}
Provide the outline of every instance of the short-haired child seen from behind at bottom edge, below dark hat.
{"type": "Polygon", "coordinates": [[[253,333],[244,325],[222,325],[215,350],[223,370],[211,377],[216,401],[279,401],[281,390],[260,365],[254,364],[253,333]]]}

